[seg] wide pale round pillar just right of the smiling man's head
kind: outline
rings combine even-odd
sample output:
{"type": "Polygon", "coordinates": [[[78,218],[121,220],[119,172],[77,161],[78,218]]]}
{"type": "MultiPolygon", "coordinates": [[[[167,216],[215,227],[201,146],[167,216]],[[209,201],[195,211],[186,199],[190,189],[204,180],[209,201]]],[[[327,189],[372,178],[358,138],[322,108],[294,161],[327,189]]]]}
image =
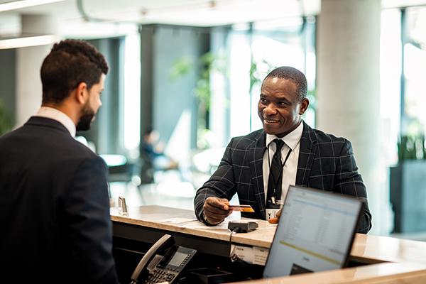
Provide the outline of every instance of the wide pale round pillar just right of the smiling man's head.
{"type": "Polygon", "coordinates": [[[383,233],[381,207],[388,202],[378,135],[380,29],[380,0],[322,0],[317,128],[351,141],[367,187],[373,233],[383,233]]]}

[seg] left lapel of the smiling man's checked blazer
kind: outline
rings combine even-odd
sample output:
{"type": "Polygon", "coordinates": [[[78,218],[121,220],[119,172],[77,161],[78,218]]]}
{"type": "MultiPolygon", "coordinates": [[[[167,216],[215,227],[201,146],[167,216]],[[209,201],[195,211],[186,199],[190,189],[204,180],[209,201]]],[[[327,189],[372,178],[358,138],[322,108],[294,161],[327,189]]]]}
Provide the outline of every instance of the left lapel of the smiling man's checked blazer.
{"type": "Polygon", "coordinates": [[[263,188],[263,153],[266,150],[266,133],[261,131],[253,147],[250,148],[252,159],[250,162],[251,180],[253,182],[254,195],[261,209],[262,219],[266,218],[265,214],[265,190],[263,188]]]}

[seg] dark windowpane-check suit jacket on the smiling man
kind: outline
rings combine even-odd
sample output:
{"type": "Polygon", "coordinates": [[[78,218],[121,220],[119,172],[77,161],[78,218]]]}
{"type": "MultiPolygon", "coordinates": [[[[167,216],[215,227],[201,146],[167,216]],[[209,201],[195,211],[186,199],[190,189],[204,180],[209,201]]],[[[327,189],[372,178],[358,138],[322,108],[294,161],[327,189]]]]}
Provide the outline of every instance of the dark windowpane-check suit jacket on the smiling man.
{"type": "MultiPolygon", "coordinates": [[[[241,213],[242,217],[266,219],[262,172],[265,144],[263,129],[231,139],[219,168],[195,196],[195,214],[200,221],[204,222],[202,207],[207,197],[231,200],[235,193],[240,204],[250,204],[255,210],[255,213],[241,213]]],[[[366,234],[371,229],[366,187],[358,173],[351,143],[345,138],[312,129],[303,122],[296,185],[353,195],[362,200],[364,209],[358,232],[366,234]]]]}

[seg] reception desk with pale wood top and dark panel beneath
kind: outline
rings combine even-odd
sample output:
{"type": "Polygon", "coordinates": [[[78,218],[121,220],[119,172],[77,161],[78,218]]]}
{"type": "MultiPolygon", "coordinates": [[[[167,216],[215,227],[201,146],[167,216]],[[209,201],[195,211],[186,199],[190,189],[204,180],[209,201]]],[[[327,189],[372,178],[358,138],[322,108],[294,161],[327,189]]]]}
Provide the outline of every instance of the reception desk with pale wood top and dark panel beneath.
{"type": "MultiPolygon", "coordinates": [[[[180,246],[222,257],[229,257],[231,249],[238,246],[253,249],[252,261],[258,265],[264,265],[276,228],[275,224],[259,220],[258,229],[233,234],[230,242],[226,226],[205,226],[191,210],[130,207],[129,215],[121,216],[112,208],[111,219],[114,237],[153,244],[163,234],[171,234],[180,246]]],[[[426,283],[426,242],[356,234],[349,261],[358,266],[250,283],[426,283]]]]}

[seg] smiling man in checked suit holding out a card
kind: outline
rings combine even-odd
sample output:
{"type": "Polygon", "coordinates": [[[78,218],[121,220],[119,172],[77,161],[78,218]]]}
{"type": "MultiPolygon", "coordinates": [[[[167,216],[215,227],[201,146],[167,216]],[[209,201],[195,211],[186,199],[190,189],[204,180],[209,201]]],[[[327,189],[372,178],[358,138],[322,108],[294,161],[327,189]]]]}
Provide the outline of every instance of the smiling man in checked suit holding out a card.
{"type": "Polygon", "coordinates": [[[240,204],[255,210],[242,217],[268,219],[283,204],[289,185],[303,185],[363,201],[357,231],[371,229],[366,187],[351,143],[302,120],[309,106],[306,93],[306,77],[293,67],[278,67],[266,76],[258,102],[263,129],[231,139],[219,168],[195,196],[200,221],[222,222],[232,212],[228,205],[235,193],[240,204]]]}

